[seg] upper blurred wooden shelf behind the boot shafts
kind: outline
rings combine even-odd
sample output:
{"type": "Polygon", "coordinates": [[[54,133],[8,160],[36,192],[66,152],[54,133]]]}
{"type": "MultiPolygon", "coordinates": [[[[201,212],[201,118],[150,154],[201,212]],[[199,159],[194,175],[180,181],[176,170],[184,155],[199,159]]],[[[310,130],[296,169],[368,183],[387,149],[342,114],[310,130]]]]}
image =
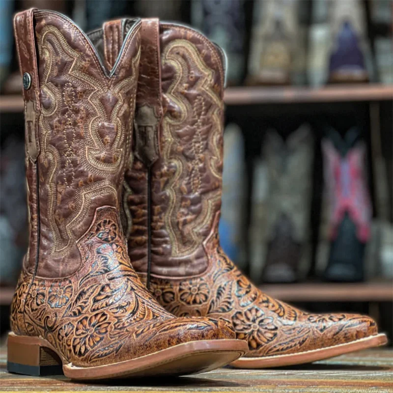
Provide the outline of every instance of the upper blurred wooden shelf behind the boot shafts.
{"type": "MultiPolygon", "coordinates": [[[[225,104],[275,104],[311,102],[350,102],[393,100],[393,85],[360,84],[311,87],[228,87],[225,104]]],[[[23,99],[20,95],[0,96],[0,112],[22,112],[23,99]]]]}

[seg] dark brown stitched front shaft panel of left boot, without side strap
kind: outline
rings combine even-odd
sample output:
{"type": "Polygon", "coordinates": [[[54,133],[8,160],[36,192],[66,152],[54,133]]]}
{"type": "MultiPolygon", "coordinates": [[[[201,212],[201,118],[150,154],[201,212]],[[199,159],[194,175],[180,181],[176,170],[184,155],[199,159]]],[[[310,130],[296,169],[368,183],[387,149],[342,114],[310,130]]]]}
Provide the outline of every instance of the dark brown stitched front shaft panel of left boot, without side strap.
{"type": "Polygon", "coordinates": [[[124,142],[131,140],[139,28],[109,77],[75,25],[50,12],[38,12],[35,21],[43,109],[37,275],[65,277],[81,265],[75,242],[95,209],[118,206],[124,142]]]}

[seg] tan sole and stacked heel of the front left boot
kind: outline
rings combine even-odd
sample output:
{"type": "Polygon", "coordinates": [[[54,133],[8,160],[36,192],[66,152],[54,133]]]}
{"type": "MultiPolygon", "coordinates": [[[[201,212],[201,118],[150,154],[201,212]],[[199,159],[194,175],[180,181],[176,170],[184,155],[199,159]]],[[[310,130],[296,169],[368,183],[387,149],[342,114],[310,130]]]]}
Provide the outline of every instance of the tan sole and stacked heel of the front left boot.
{"type": "Polygon", "coordinates": [[[62,362],[54,347],[43,338],[9,333],[7,370],[37,376],[64,373],[75,380],[177,376],[225,366],[247,352],[248,345],[243,340],[200,340],[110,365],[78,367],[62,362]]]}

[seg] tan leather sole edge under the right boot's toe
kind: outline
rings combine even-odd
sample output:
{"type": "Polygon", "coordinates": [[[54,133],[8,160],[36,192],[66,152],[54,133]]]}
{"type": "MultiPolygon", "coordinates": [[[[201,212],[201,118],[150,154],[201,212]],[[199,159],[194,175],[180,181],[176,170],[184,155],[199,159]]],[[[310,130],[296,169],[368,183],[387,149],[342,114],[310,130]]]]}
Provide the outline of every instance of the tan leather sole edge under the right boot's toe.
{"type": "Polygon", "coordinates": [[[266,356],[261,358],[247,358],[243,357],[230,365],[236,368],[269,368],[282,367],[286,365],[300,365],[304,363],[316,362],[333,358],[338,355],[343,355],[348,352],[359,351],[372,347],[378,347],[386,344],[388,341],[385,334],[381,333],[376,336],[370,336],[347,342],[345,344],[338,344],[327,348],[314,349],[306,352],[299,352],[289,355],[266,356]]]}

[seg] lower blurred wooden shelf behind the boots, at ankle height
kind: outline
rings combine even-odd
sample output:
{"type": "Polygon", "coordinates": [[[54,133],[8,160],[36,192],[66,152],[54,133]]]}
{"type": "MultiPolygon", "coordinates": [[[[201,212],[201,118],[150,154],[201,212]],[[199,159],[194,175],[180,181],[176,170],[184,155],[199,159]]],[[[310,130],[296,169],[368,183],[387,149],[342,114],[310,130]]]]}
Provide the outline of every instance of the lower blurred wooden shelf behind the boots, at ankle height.
{"type": "MultiPolygon", "coordinates": [[[[286,302],[392,302],[392,282],[360,282],[353,284],[297,283],[264,284],[269,296],[286,302]]],[[[9,305],[14,288],[0,288],[0,305],[9,305]]]]}

